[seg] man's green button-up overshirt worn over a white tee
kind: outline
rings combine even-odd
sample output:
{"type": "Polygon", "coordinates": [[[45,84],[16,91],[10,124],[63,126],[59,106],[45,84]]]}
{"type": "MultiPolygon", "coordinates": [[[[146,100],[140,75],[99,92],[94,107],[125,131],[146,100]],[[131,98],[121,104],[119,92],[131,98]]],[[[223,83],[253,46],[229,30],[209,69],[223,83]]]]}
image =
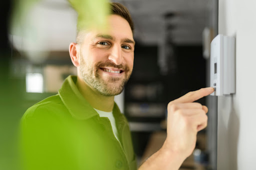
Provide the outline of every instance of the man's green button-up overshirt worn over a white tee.
{"type": "Polygon", "coordinates": [[[110,121],[82,97],[68,76],[58,94],[30,107],[21,119],[25,170],[136,170],[127,120],[116,104],[110,121]]]}

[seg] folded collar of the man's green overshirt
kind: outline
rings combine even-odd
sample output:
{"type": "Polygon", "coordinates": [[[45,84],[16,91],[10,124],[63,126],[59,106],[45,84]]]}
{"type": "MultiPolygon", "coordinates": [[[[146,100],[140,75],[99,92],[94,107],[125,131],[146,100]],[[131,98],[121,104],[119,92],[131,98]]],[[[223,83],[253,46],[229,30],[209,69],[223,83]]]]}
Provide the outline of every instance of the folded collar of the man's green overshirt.
{"type": "MultiPolygon", "coordinates": [[[[84,99],[77,89],[75,85],[76,81],[76,76],[68,76],[64,80],[61,88],[58,90],[58,94],[63,104],[70,112],[72,117],[79,120],[89,119],[98,115],[98,113],[90,106],[90,104],[84,99]]],[[[113,114],[114,116],[120,115],[120,111],[115,103],[113,114]]]]}

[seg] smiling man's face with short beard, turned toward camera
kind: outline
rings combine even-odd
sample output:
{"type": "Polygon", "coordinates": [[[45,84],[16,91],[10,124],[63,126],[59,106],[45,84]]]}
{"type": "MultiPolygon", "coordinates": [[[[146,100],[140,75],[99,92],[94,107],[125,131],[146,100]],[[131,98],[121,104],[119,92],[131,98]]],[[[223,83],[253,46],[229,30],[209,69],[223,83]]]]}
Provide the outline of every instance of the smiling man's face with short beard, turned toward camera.
{"type": "Polygon", "coordinates": [[[109,16],[107,32],[90,31],[80,44],[79,76],[104,96],[122,92],[133,67],[134,40],[128,22],[109,16]]]}

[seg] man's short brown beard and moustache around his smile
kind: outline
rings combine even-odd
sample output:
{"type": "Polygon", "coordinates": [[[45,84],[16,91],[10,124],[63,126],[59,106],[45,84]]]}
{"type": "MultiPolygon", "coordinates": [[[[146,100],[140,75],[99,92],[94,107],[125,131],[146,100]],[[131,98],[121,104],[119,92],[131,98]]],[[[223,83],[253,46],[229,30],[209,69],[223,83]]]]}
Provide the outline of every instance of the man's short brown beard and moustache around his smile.
{"type": "Polygon", "coordinates": [[[127,65],[115,65],[110,61],[99,61],[94,65],[89,65],[84,61],[82,56],[80,57],[79,71],[83,81],[103,96],[115,96],[120,94],[132,72],[127,65]],[[122,69],[124,75],[120,77],[102,77],[99,74],[99,69],[103,67],[122,69]]]}

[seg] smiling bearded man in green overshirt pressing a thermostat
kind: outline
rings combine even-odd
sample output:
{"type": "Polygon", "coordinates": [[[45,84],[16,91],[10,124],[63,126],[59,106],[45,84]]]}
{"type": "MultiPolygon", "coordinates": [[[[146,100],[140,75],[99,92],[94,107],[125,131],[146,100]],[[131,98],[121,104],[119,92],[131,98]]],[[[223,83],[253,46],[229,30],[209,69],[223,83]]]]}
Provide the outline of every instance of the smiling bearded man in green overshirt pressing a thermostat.
{"type": "MultiPolygon", "coordinates": [[[[133,67],[133,24],[128,10],[111,3],[108,30],[79,30],[69,54],[77,77],[29,108],[22,118],[23,163],[29,170],[135,170],[125,117],[114,103],[133,67]]],[[[207,108],[193,101],[213,88],[168,104],[167,138],[140,170],[177,170],[206,127],[207,108]]]]}

